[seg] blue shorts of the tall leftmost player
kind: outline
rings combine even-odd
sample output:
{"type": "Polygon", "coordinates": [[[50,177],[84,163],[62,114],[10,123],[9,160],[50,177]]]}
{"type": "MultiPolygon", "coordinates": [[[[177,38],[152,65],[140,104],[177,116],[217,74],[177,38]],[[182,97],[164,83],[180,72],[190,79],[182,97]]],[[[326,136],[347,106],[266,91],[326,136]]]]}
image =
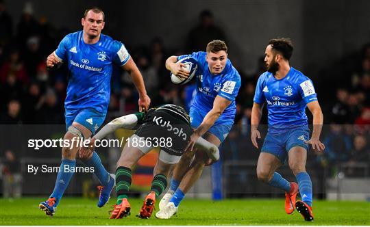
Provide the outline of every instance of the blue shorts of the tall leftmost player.
{"type": "Polygon", "coordinates": [[[72,125],[73,122],[77,122],[78,124],[82,124],[88,130],[95,134],[97,129],[103,124],[104,120],[106,119],[106,114],[101,114],[100,112],[96,111],[95,109],[78,109],[75,111],[65,111],[66,117],[66,130],[68,131],[69,126],[72,125]]]}

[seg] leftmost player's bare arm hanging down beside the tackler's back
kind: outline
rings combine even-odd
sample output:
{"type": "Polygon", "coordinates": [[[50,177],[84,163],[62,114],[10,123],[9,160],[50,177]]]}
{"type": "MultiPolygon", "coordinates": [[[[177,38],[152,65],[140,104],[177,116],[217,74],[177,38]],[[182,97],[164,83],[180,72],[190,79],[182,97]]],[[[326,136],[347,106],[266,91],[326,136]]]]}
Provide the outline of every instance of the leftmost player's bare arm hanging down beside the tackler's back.
{"type": "Polygon", "coordinates": [[[136,90],[138,90],[139,100],[138,106],[139,111],[145,111],[149,109],[150,105],[150,98],[147,95],[147,90],[145,89],[145,83],[143,79],[143,75],[141,75],[140,70],[138,70],[138,66],[136,66],[132,57],[128,60],[128,62],[122,66],[124,70],[130,73],[132,82],[134,83],[136,90]]]}

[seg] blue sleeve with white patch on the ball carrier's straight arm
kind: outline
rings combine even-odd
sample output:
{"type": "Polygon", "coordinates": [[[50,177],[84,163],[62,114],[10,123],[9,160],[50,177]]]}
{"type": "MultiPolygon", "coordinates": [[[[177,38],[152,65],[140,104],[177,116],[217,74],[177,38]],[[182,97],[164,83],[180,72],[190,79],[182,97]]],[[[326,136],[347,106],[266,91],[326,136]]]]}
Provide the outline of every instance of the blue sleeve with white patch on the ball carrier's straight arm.
{"type": "Polygon", "coordinates": [[[223,98],[226,98],[228,101],[234,101],[238,95],[239,88],[241,85],[241,79],[238,75],[238,72],[232,72],[233,76],[225,79],[222,84],[221,90],[217,94],[223,98]]]}

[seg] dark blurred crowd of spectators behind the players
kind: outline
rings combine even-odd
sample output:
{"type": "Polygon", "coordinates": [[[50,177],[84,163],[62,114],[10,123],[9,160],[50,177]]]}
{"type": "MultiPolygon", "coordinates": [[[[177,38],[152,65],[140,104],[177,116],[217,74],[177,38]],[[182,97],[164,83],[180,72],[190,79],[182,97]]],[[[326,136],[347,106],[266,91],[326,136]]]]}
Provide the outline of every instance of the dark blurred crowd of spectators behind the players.
{"type": "MultiPolygon", "coordinates": [[[[0,124],[64,124],[68,72],[65,65],[58,70],[47,70],[45,60],[60,40],[73,31],[56,28],[45,17],[36,18],[31,3],[26,3],[16,26],[13,20],[0,0],[0,124]]],[[[108,35],[116,38],[114,34],[108,35]]],[[[188,31],[182,49],[165,46],[160,37],[152,38],[143,46],[126,44],[143,75],[151,106],[173,103],[188,109],[195,94],[195,84],[179,86],[171,83],[164,62],[170,55],[203,51],[213,39],[227,42],[223,29],[214,23],[212,12],[204,10],[199,15],[199,23],[188,31]]],[[[338,76],[330,76],[328,70],[323,69],[323,75],[312,78],[328,125],[323,127],[322,135],[325,152],[310,152],[308,161],[322,167],[361,162],[367,163],[369,168],[370,44],[354,55],[356,57],[345,56],[333,65],[336,70],[332,73],[338,72],[338,76]],[[316,83],[318,78],[322,79],[321,83],[316,83]],[[328,84],[331,84],[330,88],[328,84]]],[[[227,150],[225,159],[256,160],[258,157],[258,152],[251,152],[255,149],[249,142],[255,85],[258,76],[264,72],[264,57],[257,60],[258,68],[254,74],[247,75],[239,70],[242,87],[236,100],[235,126],[223,146],[227,150]]],[[[130,76],[121,68],[114,68],[111,85],[106,121],[138,110],[136,89],[130,76]]],[[[262,124],[267,124],[266,113],[264,117],[262,124]]],[[[352,174],[351,171],[348,174],[352,174]]]]}

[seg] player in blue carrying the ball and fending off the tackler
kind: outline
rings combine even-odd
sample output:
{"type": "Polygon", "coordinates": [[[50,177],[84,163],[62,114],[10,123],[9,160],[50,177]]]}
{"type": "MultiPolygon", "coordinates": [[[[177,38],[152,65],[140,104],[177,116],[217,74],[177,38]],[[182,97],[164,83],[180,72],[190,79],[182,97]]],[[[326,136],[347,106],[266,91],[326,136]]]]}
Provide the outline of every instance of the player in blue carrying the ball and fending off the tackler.
{"type": "Polygon", "coordinates": [[[171,187],[160,201],[160,211],[156,217],[161,219],[171,218],[177,212],[186,192],[201,176],[204,166],[210,164],[204,151],[193,149],[197,139],[204,137],[208,142],[220,146],[227,137],[234,124],[235,98],[240,88],[240,75],[227,59],[225,42],[213,40],[208,43],[206,52],[169,57],[166,68],[181,78],[188,77],[188,72],[182,68],[184,64],[177,62],[184,57],[193,57],[198,63],[197,94],[189,113],[195,131],[190,136],[187,152],[173,171],[171,187]],[[194,155],[194,161],[191,162],[194,155]]]}

